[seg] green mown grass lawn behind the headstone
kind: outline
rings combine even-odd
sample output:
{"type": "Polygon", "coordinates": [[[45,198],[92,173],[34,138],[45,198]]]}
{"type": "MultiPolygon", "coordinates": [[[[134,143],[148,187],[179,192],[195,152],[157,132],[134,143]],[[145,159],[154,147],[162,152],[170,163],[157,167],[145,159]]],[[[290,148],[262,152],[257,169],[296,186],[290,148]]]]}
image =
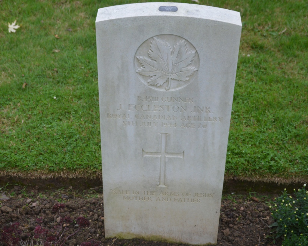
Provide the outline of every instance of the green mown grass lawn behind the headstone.
{"type": "MultiPolygon", "coordinates": [[[[135,2],[164,1],[0,1],[2,174],[100,175],[96,13],[135,2]]],[[[243,23],[226,177],[307,180],[308,5],[200,4],[239,11],[243,23]]]]}

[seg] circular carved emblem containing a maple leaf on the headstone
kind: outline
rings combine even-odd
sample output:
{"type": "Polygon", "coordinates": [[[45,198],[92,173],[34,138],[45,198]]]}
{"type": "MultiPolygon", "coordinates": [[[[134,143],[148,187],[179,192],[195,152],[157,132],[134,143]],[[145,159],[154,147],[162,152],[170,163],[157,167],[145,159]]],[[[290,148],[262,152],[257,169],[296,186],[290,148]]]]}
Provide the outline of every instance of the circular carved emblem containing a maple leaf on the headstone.
{"type": "Polygon", "coordinates": [[[199,68],[199,55],[186,39],[161,34],[139,46],[134,64],[144,84],[159,91],[174,91],[193,80],[199,68]]]}

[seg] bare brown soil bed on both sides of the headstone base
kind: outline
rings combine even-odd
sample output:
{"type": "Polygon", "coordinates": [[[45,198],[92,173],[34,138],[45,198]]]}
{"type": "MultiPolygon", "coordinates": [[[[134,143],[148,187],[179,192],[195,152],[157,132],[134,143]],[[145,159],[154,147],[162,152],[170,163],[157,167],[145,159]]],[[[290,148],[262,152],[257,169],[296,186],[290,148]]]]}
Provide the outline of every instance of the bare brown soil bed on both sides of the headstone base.
{"type": "MultiPolygon", "coordinates": [[[[1,190],[0,195],[3,193],[1,190]]],[[[74,236],[71,236],[65,245],[75,246],[82,242],[89,242],[91,239],[100,241],[100,245],[165,245],[176,246],[186,244],[167,243],[159,241],[145,241],[142,239],[122,240],[119,238],[104,238],[104,214],[103,214],[103,191],[102,187],[74,191],[72,188],[43,190],[39,186],[33,188],[20,185],[10,185],[3,194],[8,200],[0,200],[0,232],[5,226],[19,222],[21,237],[24,241],[34,236],[35,227],[38,225],[36,219],[42,219],[42,228],[52,230],[59,226],[61,216],[70,216],[75,219],[85,216],[90,220],[90,226],[83,228],[74,236]],[[10,195],[9,195],[10,194],[10,195]],[[53,206],[65,204],[56,213],[53,206]],[[59,214],[60,212],[60,214],[59,214]]],[[[3,196],[2,195],[2,196],[3,196]]],[[[250,194],[251,195],[251,194],[250,194]]],[[[281,245],[281,240],[273,243],[266,238],[269,234],[268,227],[273,221],[270,217],[268,204],[269,196],[251,197],[248,195],[224,195],[221,202],[221,212],[218,230],[217,245],[221,246],[260,246],[260,245],[281,245]]],[[[74,222],[67,226],[66,235],[77,230],[74,222]]],[[[0,236],[1,238],[1,236],[0,236]]],[[[0,245],[6,245],[0,242],[0,245]]],[[[19,244],[18,244],[19,245],[19,244]]],[[[26,244],[30,245],[30,244],[26,244]]]]}

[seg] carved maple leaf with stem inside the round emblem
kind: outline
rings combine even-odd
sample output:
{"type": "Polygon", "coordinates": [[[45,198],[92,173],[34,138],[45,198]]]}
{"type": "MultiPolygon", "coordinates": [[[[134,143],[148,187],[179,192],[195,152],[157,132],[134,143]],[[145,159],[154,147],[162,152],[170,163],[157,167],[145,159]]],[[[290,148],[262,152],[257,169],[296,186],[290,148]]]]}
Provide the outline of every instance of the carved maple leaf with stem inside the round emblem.
{"type": "Polygon", "coordinates": [[[148,57],[137,56],[142,65],[136,70],[137,73],[149,76],[149,85],[159,87],[167,83],[166,91],[170,89],[171,81],[186,81],[198,69],[189,66],[196,55],[196,51],[187,49],[186,41],[183,39],[173,47],[163,40],[153,37],[148,57]]]}

